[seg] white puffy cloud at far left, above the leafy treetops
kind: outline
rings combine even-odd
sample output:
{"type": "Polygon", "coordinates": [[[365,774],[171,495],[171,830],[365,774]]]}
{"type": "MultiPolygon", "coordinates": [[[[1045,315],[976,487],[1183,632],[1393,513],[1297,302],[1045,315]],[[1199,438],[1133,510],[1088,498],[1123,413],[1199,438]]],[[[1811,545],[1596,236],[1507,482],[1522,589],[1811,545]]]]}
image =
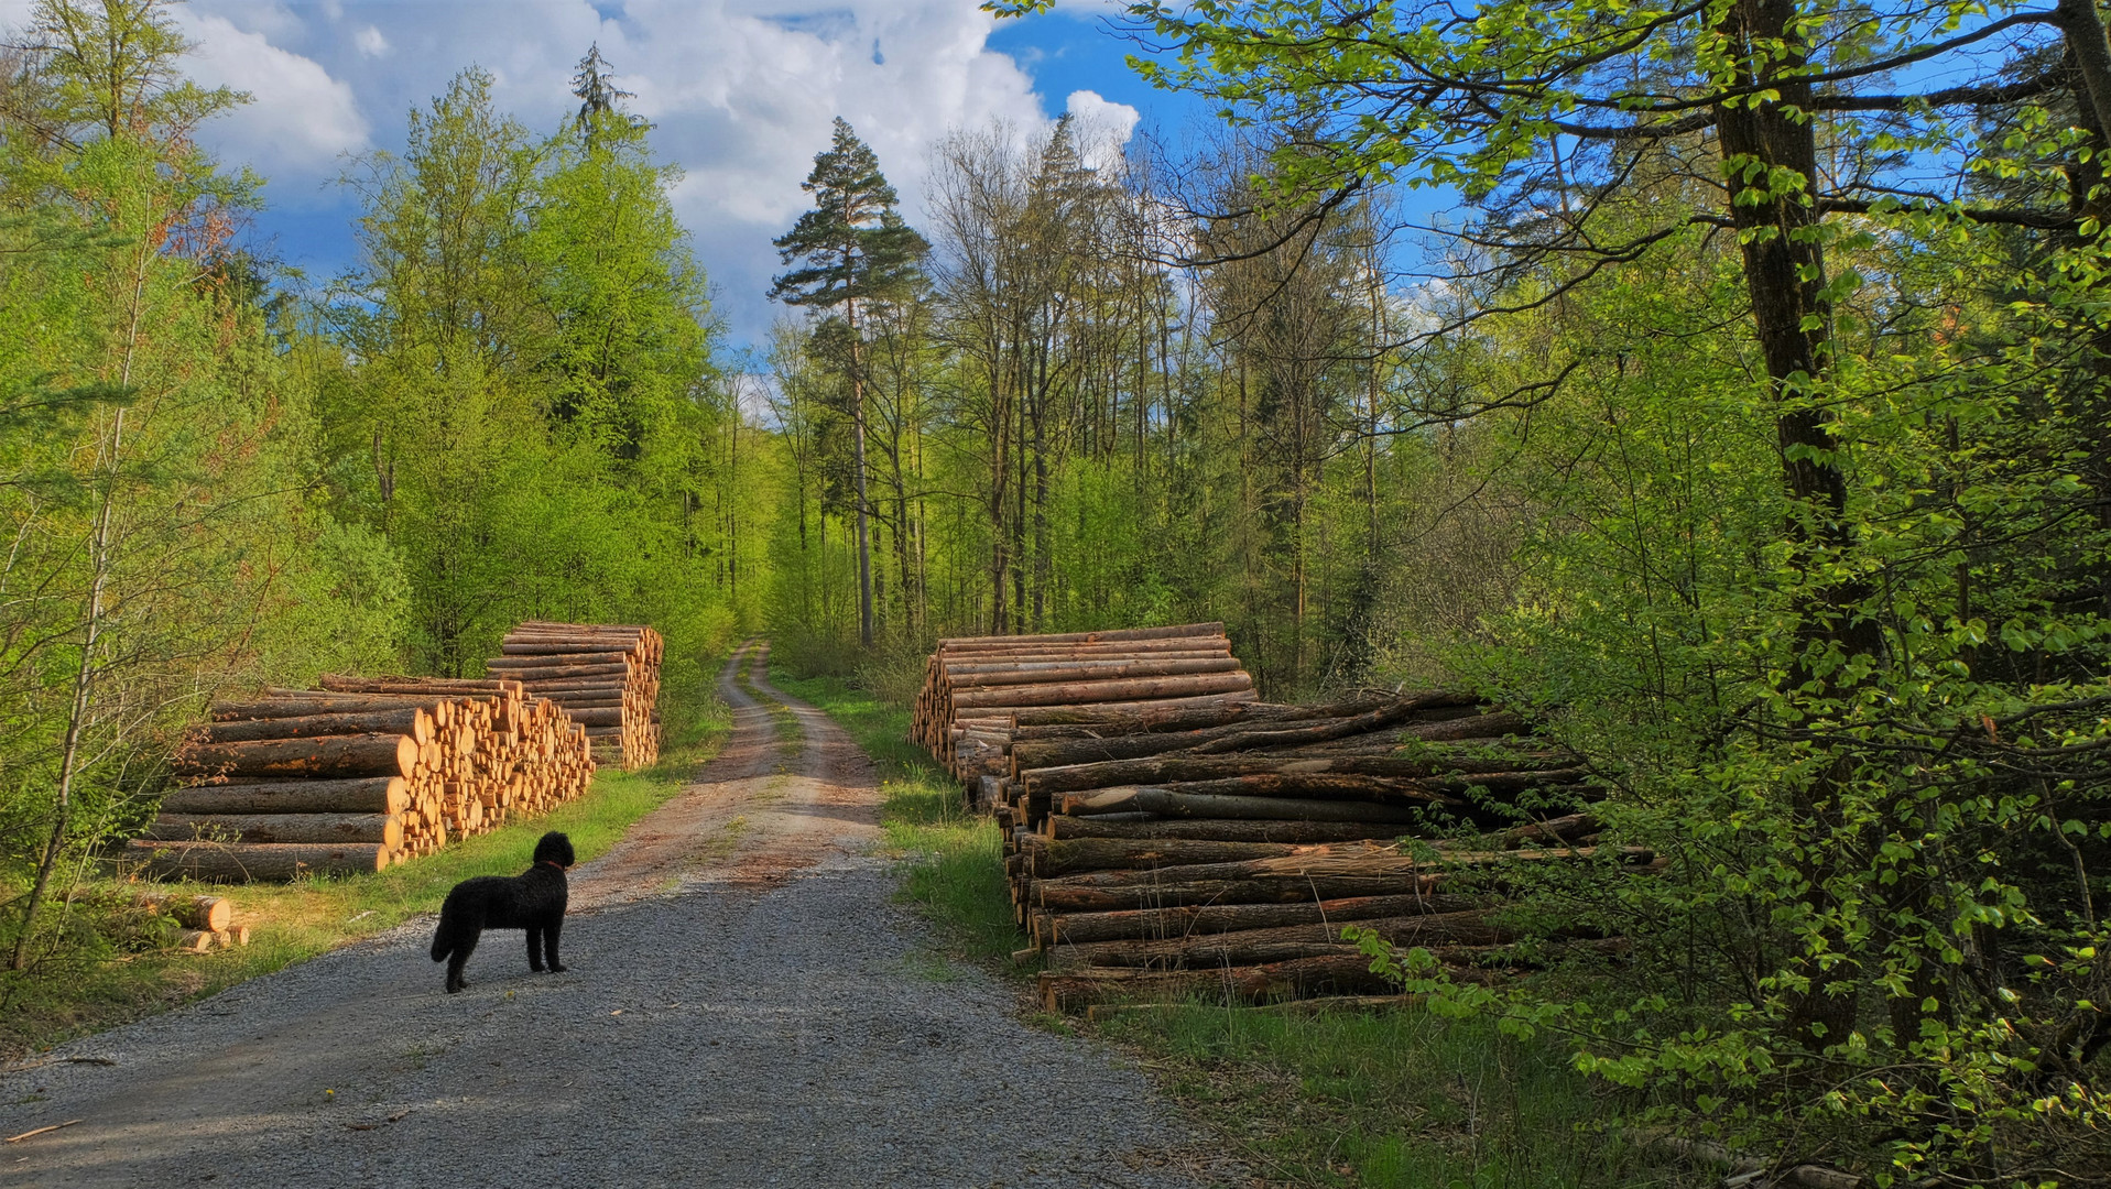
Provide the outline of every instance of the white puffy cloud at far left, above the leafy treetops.
{"type": "Polygon", "coordinates": [[[196,44],[186,72],[205,87],[249,91],[251,101],[201,131],[230,163],[255,163],[266,173],[317,175],[344,152],[367,146],[367,120],[353,89],[315,59],[287,53],[260,32],[224,17],[198,15],[186,32],[196,44]]]}

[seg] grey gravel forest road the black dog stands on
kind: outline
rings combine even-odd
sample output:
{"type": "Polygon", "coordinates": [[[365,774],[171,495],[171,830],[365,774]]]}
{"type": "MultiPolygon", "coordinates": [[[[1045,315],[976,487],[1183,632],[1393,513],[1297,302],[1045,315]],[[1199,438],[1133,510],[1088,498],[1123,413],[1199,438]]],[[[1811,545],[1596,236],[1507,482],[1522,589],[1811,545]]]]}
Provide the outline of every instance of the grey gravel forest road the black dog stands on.
{"type": "Polygon", "coordinates": [[[80,1124],[0,1185],[1203,1185],[1142,1075],[891,904],[866,756],[766,648],[724,752],[574,868],[566,974],[505,931],[443,995],[426,919],[63,1045],[0,1073],[0,1134],[80,1124]]]}

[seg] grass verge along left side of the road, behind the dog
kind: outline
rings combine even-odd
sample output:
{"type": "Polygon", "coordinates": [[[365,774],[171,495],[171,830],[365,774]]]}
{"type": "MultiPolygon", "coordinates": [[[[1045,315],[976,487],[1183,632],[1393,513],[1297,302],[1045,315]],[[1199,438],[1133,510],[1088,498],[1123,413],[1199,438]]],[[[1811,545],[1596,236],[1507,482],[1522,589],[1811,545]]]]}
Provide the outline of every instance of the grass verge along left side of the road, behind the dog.
{"type": "MultiPolygon", "coordinates": [[[[671,739],[654,767],[600,773],[587,796],[543,817],[509,822],[490,834],[464,838],[435,855],[374,874],[285,885],[163,885],[171,891],[232,898],[234,921],[249,925],[249,944],[209,955],[154,950],[99,961],[91,946],[72,946],[63,959],[32,965],[19,976],[0,971],[0,1060],[13,1062],[36,1050],[165,1012],[422,912],[437,912],[448,889],[473,874],[517,874],[528,868],[545,830],[570,834],[581,862],[606,853],[631,822],[680,792],[697,765],[711,758],[724,741],[730,716],[716,695],[709,705],[684,710],[684,737],[671,739]]],[[[84,885],[84,891],[93,895],[97,887],[84,885]]]]}

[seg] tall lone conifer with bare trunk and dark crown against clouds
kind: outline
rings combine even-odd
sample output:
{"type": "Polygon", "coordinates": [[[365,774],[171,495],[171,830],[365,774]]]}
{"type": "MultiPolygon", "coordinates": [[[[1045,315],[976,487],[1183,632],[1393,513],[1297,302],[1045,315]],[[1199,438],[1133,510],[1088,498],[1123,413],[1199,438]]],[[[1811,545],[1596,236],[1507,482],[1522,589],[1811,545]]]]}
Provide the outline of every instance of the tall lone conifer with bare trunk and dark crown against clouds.
{"type": "Polygon", "coordinates": [[[916,277],[929,243],[901,222],[899,196],[880,173],[880,161],[857,139],[849,120],[836,116],[828,150],[813,158],[813,173],[800,184],[815,196],[811,211],[773,241],[783,264],[802,262],[777,277],[771,300],[787,306],[842,310],[851,332],[851,422],[857,467],[857,634],[872,644],[872,532],[866,496],[866,374],[859,304],[901,294],[916,277]]]}

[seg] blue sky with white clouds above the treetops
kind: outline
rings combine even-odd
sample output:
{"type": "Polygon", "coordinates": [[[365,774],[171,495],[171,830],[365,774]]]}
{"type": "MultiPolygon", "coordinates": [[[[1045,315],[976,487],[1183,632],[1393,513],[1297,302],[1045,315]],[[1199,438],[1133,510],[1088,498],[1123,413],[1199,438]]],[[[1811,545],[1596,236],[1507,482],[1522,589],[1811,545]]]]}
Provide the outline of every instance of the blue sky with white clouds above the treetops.
{"type": "MultiPolygon", "coordinates": [[[[32,0],[0,0],[21,25],[32,0]]],[[[1098,13],[994,21],[975,0],[190,0],[177,8],[207,84],[255,95],[201,131],[268,180],[253,239],[312,281],[355,264],[359,154],[403,144],[405,114],[477,63],[498,103],[547,131],[576,103],[574,63],[600,42],[654,148],[686,177],[673,205],[718,291],[735,346],[777,317],[768,241],[804,207],[800,180],[847,116],[880,154],[914,222],[927,150],[954,127],[1030,129],[1077,110],[1127,133],[1178,127],[1195,103],[1125,65],[1098,13]]]]}

